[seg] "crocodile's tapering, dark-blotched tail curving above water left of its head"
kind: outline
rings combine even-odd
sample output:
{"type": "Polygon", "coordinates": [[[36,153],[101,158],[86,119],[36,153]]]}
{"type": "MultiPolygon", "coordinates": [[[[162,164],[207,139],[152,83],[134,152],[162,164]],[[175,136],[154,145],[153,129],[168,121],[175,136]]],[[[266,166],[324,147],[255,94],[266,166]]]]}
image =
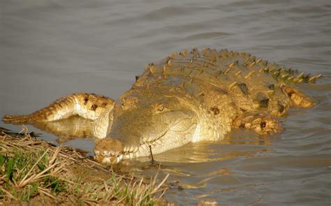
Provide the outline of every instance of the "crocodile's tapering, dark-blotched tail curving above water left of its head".
{"type": "Polygon", "coordinates": [[[73,115],[95,120],[105,109],[115,105],[112,98],[96,94],[71,94],[59,98],[46,108],[31,113],[30,115],[5,115],[3,122],[11,124],[27,124],[33,122],[52,122],[66,119],[73,115]]]}

